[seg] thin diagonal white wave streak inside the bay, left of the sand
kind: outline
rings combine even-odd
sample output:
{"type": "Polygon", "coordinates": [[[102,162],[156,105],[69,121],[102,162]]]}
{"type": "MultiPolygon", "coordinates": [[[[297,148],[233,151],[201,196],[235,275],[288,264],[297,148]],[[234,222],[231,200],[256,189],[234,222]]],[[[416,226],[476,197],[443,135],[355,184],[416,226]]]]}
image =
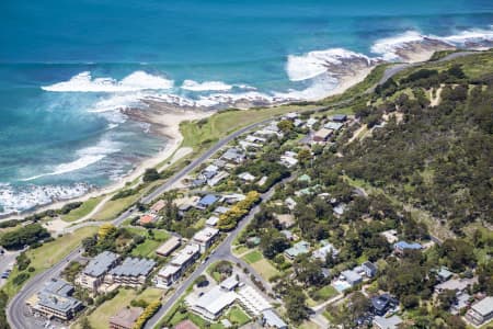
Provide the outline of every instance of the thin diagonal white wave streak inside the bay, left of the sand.
{"type": "Polygon", "coordinates": [[[102,159],[104,159],[107,155],[119,151],[117,148],[117,143],[103,139],[95,146],[90,146],[87,148],[82,148],[77,151],[77,159],[67,163],[60,163],[55,166],[50,172],[36,174],[33,177],[28,177],[22,179],[22,181],[33,181],[43,177],[49,175],[60,175],[68,172],[77,171],[83,168],[87,168],[91,164],[94,164],[102,159]]]}

